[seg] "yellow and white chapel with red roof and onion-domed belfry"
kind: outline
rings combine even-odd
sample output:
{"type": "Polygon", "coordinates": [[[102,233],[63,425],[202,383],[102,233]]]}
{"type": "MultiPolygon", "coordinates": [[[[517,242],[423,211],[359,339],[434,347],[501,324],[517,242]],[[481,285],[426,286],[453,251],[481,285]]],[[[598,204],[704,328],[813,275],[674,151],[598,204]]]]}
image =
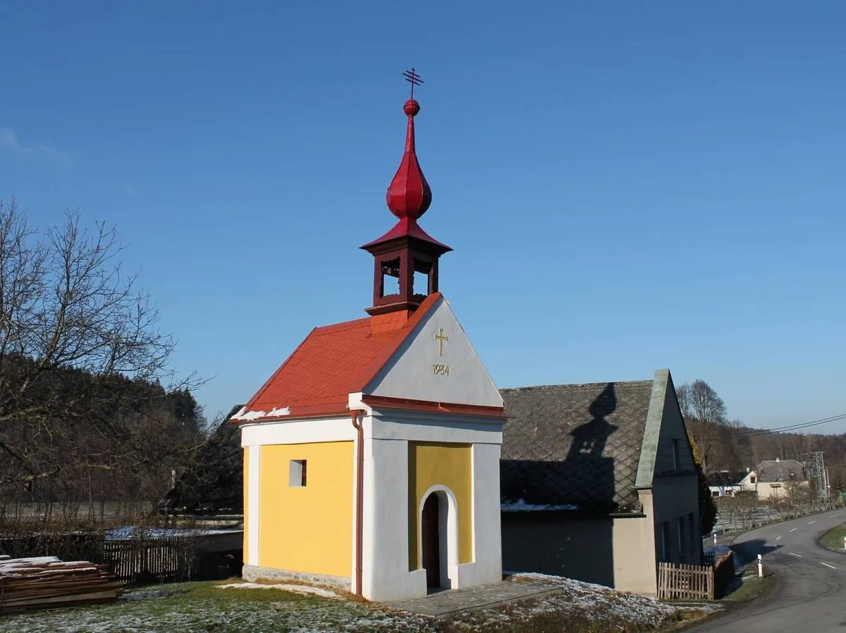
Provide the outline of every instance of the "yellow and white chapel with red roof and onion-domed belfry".
{"type": "Polygon", "coordinates": [[[432,194],[413,88],[403,112],[386,195],[396,222],[361,247],[373,258],[365,316],[311,330],[230,418],[244,449],[247,580],[386,601],[503,577],[503,396],[439,290],[452,249],[420,226],[432,194]]]}

